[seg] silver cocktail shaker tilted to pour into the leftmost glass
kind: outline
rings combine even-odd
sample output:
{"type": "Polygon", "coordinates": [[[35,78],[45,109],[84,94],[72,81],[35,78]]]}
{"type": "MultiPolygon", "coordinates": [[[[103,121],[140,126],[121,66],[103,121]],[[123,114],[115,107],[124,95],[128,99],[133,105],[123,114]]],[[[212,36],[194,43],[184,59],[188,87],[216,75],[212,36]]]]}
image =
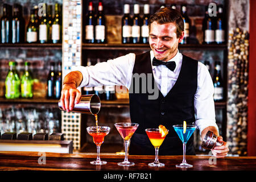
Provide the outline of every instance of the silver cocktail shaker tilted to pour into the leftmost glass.
{"type": "MultiPolygon", "coordinates": [[[[60,101],[58,105],[60,110],[64,110],[61,106],[60,101]]],[[[97,94],[91,94],[91,95],[82,95],[79,104],[75,104],[71,112],[94,115],[94,114],[98,114],[100,109],[101,109],[100,97],[98,97],[97,94]]]]}

